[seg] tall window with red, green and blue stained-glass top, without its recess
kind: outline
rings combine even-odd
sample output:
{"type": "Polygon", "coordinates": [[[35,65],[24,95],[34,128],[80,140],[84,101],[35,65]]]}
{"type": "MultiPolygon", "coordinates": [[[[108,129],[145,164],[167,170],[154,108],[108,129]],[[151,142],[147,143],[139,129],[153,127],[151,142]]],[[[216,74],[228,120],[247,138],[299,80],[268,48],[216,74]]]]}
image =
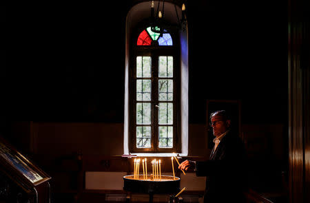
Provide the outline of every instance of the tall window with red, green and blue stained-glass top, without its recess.
{"type": "MultiPolygon", "coordinates": [[[[172,33],[138,29],[130,68],[130,141],[132,152],[172,152],[180,149],[179,46],[172,33]]],[[[176,40],[177,41],[177,40],[176,40]]]]}

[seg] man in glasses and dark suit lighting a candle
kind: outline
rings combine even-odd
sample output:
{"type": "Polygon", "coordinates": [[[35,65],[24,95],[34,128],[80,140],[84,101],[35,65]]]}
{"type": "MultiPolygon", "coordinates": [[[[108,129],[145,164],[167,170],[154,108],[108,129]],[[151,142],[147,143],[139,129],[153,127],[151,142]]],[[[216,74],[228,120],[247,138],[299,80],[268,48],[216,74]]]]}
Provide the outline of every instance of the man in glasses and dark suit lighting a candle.
{"type": "Polygon", "coordinates": [[[210,116],[214,133],[214,148],[205,162],[185,160],[178,169],[194,169],[197,176],[207,176],[204,202],[245,202],[247,189],[246,156],[242,140],[230,130],[226,111],[210,116]]]}

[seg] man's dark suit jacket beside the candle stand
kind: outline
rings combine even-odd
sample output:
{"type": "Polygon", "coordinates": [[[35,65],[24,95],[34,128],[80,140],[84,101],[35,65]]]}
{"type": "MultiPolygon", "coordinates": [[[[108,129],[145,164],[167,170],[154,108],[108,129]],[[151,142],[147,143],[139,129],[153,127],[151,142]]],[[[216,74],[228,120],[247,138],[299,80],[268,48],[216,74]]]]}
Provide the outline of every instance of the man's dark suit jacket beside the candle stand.
{"type": "Polygon", "coordinates": [[[245,148],[236,133],[227,133],[205,162],[196,162],[196,175],[207,176],[205,202],[245,202],[245,148]]]}

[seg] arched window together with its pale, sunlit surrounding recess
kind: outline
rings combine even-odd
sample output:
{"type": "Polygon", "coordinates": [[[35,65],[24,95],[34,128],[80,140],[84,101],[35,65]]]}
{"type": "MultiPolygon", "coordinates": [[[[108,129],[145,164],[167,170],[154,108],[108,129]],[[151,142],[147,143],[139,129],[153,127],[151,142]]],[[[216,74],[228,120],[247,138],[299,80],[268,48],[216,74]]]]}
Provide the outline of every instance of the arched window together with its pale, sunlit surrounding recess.
{"type": "MultiPolygon", "coordinates": [[[[176,10],[172,3],[165,8],[176,10]]],[[[143,21],[147,18],[149,2],[136,4],[127,14],[124,153],[187,156],[187,28],[158,33],[160,28],[143,21]]]]}

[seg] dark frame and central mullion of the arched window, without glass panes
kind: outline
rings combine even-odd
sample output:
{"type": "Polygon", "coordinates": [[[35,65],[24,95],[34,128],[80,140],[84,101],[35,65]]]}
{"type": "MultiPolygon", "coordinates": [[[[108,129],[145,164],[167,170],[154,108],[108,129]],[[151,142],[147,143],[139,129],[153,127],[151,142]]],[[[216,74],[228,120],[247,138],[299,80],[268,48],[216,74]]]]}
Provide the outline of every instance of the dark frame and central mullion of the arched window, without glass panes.
{"type": "MultiPolygon", "coordinates": [[[[138,27],[136,32],[132,35],[131,39],[131,54],[130,54],[130,80],[129,80],[129,148],[131,153],[172,153],[180,151],[181,148],[181,133],[180,133],[180,41],[178,34],[169,32],[172,36],[173,45],[136,45],[138,35],[147,28],[147,25],[138,27]],[[152,116],[152,142],[150,148],[137,148],[136,147],[136,56],[151,56],[152,60],[152,100],[151,100],[151,116],[152,116]],[[158,97],[158,57],[159,56],[173,56],[174,63],[174,136],[172,148],[159,148],[158,147],[158,112],[155,105],[159,103],[158,97]],[[154,74],[155,72],[155,74],[154,74]],[[155,82],[154,82],[155,80],[155,82]],[[154,85],[157,82],[156,85],[154,85]],[[155,91],[154,91],[155,90],[155,91]],[[155,99],[155,100],[154,100],[155,99]]],[[[139,101],[140,102],[140,101],[139,101]]]]}

